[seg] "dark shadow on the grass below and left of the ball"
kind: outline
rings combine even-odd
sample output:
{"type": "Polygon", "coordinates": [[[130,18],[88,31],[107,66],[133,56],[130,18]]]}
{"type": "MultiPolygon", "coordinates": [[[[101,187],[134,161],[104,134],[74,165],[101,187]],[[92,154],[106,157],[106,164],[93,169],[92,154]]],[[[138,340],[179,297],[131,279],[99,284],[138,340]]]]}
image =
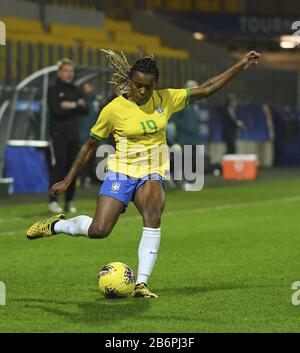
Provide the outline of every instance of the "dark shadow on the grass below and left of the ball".
{"type": "Polygon", "coordinates": [[[97,291],[94,301],[68,301],[56,299],[22,299],[26,308],[39,309],[62,316],[71,322],[108,327],[130,317],[140,316],[150,308],[151,300],[143,298],[105,299],[97,291]]]}

